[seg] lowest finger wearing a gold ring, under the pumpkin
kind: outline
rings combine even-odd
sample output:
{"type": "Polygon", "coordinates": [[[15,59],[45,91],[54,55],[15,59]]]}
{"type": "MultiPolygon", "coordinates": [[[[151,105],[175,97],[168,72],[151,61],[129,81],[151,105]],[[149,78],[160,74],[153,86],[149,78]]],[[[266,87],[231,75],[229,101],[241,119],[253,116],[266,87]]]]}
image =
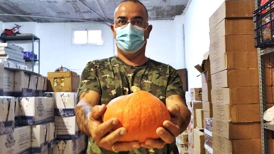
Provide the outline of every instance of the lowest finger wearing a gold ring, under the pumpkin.
{"type": "Polygon", "coordinates": [[[130,151],[140,148],[140,144],[137,141],[133,142],[116,142],[113,145],[113,149],[116,151],[130,151]]]}

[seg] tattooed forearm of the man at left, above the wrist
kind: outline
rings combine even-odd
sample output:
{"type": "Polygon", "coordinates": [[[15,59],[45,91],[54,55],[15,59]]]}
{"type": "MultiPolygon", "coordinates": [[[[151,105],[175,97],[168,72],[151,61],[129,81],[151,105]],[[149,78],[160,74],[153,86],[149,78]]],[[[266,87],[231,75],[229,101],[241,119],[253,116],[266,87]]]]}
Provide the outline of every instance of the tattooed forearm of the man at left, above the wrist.
{"type": "Polygon", "coordinates": [[[91,136],[88,130],[92,105],[86,102],[79,102],[75,108],[76,123],[79,129],[87,136],[91,136]]]}

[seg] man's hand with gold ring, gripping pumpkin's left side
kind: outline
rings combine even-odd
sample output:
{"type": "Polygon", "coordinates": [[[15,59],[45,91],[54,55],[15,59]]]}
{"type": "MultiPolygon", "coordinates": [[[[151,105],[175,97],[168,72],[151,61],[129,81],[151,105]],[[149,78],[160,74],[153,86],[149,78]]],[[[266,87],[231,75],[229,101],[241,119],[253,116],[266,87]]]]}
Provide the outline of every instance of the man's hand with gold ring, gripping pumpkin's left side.
{"type": "Polygon", "coordinates": [[[116,151],[130,151],[139,148],[140,144],[137,141],[117,142],[127,133],[127,130],[124,127],[120,127],[112,131],[119,124],[119,120],[112,118],[106,122],[102,122],[102,115],[105,111],[105,104],[95,105],[90,114],[88,129],[97,145],[111,151],[113,151],[112,146],[116,151]]]}

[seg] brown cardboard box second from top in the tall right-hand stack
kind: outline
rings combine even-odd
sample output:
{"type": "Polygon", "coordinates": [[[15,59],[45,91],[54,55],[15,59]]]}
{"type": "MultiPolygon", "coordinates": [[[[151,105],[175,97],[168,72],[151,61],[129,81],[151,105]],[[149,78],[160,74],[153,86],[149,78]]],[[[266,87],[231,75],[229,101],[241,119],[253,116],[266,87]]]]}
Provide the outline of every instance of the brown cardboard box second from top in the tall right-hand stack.
{"type": "Polygon", "coordinates": [[[215,28],[210,30],[210,45],[225,35],[253,35],[252,18],[231,18],[222,20],[215,28]]]}

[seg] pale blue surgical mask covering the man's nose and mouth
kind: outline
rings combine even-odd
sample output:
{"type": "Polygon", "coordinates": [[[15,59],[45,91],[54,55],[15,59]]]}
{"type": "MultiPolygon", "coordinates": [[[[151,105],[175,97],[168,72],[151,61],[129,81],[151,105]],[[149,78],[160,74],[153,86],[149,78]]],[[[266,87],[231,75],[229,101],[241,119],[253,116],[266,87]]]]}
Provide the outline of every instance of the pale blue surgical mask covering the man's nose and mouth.
{"type": "Polygon", "coordinates": [[[141,49],[146,40],[144,41],[144,28],[134,26],[128,23],[127,26],[120,26],[116,30],[116,44],[119,49],[126,53],[135,53],[141,49]]]}

